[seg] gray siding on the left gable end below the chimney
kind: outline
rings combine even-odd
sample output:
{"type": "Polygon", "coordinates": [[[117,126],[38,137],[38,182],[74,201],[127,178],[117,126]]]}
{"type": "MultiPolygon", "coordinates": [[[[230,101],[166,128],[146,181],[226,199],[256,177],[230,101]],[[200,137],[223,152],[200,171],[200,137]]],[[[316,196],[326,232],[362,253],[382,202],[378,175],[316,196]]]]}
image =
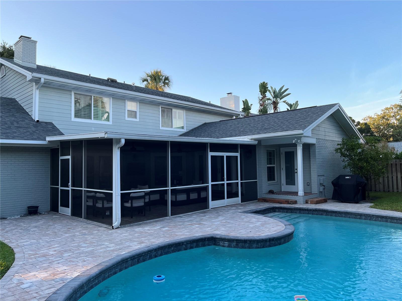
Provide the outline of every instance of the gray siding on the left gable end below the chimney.
{"type": "Polygon", "coordinates": [[[32,116],[34,83],[27,81],[25,75],[7,66],[4,67],[6,75],[0,79],[1,96],[15,98],[32,116]]]}

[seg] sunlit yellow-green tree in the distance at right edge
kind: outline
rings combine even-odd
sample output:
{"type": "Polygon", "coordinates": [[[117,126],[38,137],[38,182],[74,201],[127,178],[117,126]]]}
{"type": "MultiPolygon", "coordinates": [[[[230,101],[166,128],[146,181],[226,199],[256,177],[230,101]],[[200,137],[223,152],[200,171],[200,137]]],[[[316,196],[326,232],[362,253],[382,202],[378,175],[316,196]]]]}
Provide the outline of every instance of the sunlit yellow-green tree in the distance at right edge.
{"type": "Polygon", "coordinates": [[[363,118],[373,130],[373,133],[386,141],[402,139],[402,103],[392,104],[381,110],[380,114],[363,118]]]}

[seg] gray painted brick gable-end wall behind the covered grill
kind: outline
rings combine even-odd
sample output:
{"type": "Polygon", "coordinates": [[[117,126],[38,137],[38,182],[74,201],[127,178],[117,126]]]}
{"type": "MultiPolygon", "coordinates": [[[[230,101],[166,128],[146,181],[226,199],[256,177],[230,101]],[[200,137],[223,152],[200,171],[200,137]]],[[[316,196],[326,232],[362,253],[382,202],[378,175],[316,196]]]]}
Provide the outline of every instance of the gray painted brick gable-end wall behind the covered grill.
{"type": "Polygon", "coordinates": [[[332,180],[338,175],[347,174],[349,170],[343,169],[342,159],[335,153],[339,141],[316,139],[316,168],[317,175],[325,176],[325,194],[332,197],[332,180]]]}

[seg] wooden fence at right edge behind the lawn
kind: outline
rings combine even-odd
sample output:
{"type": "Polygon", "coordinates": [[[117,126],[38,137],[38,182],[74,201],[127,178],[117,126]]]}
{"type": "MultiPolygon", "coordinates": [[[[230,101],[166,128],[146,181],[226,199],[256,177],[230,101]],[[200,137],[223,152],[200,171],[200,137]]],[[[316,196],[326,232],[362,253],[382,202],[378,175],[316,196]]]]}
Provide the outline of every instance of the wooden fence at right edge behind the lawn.
{"type": "Polygon", "coordinates": [[[387,165],[387,172],[377,181],[370,181],[370,191],[402,192],[402,160],[392,160],[387,165]]]}

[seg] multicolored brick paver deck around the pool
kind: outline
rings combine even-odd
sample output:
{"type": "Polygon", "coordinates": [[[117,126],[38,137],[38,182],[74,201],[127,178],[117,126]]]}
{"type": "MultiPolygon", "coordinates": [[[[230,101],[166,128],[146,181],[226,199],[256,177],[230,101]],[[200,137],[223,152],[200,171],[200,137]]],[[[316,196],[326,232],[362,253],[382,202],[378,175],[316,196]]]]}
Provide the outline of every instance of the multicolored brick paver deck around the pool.
{"type": "Polygon", "coordinates": [[[263,236],[285,226],[267,216],[244,211],[267,206],[307,207],[386,214],[401,212],[369,208],[370,203],[282,205],[249,202],[112,230],[110,226],[49,213],[2,220],[1,240],[16,252],[15,262],[0,281],[2,301],[45,300],[85,270],[116,255],[167,240],[204,234],[263,236]]]}

